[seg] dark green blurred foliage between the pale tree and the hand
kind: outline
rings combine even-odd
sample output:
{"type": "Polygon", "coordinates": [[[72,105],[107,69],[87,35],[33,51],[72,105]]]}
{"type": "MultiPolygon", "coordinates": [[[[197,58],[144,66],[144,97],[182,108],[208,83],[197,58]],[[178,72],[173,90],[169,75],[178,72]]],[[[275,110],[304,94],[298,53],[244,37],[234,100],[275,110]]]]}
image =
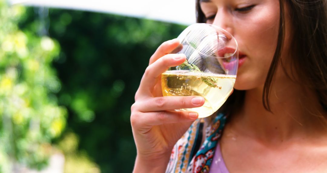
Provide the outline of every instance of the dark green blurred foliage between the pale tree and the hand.
{"type": "Polygon", "coordinates": [[[33,34],[43,26],[60,47],[52,62],[61,81],[54,99],[67,108],[68,117],[63,135],[52,142],[76,134],[78,152],[86,153],[101,172],[131,172],[134,94],[152,53],[186,26],[59,9],[46,11],[44,18],[38,8],[28,8],[19,26],[33,34]]]}

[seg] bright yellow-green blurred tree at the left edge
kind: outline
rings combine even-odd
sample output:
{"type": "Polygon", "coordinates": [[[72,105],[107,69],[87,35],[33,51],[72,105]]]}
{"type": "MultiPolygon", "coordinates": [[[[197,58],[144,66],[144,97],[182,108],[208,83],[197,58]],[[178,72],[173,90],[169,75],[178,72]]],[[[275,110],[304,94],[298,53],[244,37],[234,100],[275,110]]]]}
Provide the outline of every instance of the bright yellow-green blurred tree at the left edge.
{"type": "Polygon", "coordinates": [[[21,31],[25,9],[0,0],[0,172],[15,165],[43,168],[51,140],[66,125],[67,110],[58,106],[60,80],[51,63],[58,43],[47,36],[21,31]]]}

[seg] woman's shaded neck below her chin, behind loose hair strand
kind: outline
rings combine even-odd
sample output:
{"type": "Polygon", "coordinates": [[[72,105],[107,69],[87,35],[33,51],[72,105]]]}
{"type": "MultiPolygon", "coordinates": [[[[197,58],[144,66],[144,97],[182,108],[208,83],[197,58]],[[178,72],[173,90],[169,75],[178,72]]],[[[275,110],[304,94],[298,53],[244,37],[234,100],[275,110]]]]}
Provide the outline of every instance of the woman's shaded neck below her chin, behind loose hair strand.
{"type": "Polygon", "coordinates": [[[271,88],[269,105],[262,104],[263,87],[247,90],[244,105],[234,118],[237,125],[247,129],[247,135],[269,143],[293,138],[306,138],[327,132],[326,112],[316,94],[291,82],[275,83],[271,88]]]}

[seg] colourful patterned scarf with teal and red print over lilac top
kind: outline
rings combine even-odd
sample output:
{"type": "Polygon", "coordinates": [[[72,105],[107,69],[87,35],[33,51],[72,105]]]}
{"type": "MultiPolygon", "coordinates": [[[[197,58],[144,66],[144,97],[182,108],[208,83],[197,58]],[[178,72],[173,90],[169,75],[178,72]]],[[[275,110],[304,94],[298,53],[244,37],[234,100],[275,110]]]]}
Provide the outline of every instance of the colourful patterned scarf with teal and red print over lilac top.
{"type": "Polygon", "coordinates": [[[201,145],[204,122],[203,119],[196,120],[175,144],[166,173],[208,173],[225,123],[226,116],[217,114],[204,129],[205,140],[201,145]]]}

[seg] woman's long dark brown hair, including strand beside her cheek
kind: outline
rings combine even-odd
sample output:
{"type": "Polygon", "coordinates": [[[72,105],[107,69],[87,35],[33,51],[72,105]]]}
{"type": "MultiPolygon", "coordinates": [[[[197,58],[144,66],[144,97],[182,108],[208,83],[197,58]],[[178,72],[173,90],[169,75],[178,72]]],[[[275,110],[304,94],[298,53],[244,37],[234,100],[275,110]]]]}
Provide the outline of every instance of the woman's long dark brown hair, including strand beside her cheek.
{"type": "MultiPolygon", "coordinates": [[[[275,54],[273,56],[263,90],[263,105],[268,110],[270,87],[281,54],[285,36],[285,11],[287,3],[290,10],[293,39],[291,50],[293,52],[292,64],[294,72],[301,77],[301,84],[315,90],[319,103],[327,111],[327,9],[325,0],[279,0],[280,20],[279,33],[275,54]]],[[[200,1],[196,1],[196,16],[198,23],[205,22],[205,16],[200,8],[200,1]]],[[[288,75],[288,74],[287,74],[288,75]]],[[[288,75],[290,76],[290,75],[288,75]]],[[[219,111],[233,114],[243,105],[245,91],[234,90],[226,103],[219,111]]]]}

